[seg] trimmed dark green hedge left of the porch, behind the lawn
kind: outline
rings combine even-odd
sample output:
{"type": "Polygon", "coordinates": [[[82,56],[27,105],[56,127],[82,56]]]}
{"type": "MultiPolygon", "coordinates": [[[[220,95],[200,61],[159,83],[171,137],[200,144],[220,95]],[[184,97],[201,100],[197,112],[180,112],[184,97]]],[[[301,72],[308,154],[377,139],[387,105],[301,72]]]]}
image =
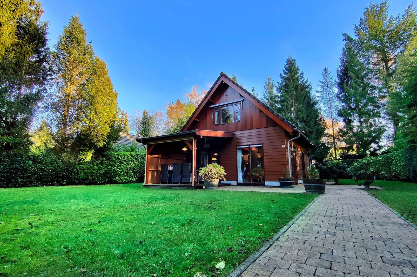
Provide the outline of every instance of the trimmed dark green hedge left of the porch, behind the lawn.
{"type": "Polygon", "coordinates": [[[111,152],[77,165],[49,151],[0,155],[0,188],[143,182],[145,153],[111,152]]]}

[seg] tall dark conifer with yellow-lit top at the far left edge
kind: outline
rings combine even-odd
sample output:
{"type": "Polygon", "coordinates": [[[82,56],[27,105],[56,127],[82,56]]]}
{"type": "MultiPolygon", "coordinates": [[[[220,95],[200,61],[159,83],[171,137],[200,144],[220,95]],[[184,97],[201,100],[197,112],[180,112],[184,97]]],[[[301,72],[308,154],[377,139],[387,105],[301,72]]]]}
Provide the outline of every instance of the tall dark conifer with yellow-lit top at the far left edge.
{"type": "Polygon", "coordinates": [[[0,39],[0,151],[25,151],[31,144],[30,124],[50,77],[48,23],[40,21],[43,10],[35,1],[2,3],[1,8],[2,32],[3,20],[10,20],[11,10],[14,14],[6,26],[8,33],[0,39]]]}

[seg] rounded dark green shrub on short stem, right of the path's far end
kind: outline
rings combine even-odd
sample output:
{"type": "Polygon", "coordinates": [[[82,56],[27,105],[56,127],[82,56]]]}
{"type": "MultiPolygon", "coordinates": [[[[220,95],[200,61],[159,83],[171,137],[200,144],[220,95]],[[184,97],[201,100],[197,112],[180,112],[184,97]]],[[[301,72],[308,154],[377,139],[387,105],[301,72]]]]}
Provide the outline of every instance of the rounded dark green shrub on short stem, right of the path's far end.
{"type": "Polygon", "coordinates": [[[363,180],[364,185],[369,188],[369,186],[375,181],[377,174],[377,167],[374,164],[375,158],[378,157],[362,158],[352,164],[348,171],[353,176],[355,182],[363,180]]]}

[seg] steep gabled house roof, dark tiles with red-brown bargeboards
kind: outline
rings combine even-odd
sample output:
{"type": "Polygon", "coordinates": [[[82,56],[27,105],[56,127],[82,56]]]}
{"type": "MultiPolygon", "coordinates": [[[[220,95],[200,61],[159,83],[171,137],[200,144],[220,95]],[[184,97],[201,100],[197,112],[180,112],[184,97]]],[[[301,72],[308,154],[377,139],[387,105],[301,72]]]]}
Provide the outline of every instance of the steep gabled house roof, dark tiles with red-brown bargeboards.
{"type": "Polygon", "coordinates": [[[276,111],[274,111],[273,109],[271,109],[264,102],[262,102],[261,100],[259,100],[258,98],[256,98],[256,96],[254,96],[253,94],[251,94],[248,90],[246,90],[240,84],[234,82],[232,79],[230,79],[229,76],[227,76],[226,74],[224,74],[224,72],[221,72],[220,73],[220,76],[216,79],[216,82],[214,82],[214,84],[208,90],[207,94],[201,100],[200,104],[198,104],[197,108],[194,110],[193,114],[191,114],[191,116],[188,119],[188,121],[186,122],[186,124],[184,124],[183,128],[181,129],[181,132],[183,132],[184,130],[186,130],[191,125],[191,122],[193,122],[193,120],[198,115],[198,113],[201,111],[201,109],[203,108],[203,106],[207,103],[208,99],[214,93],[214,91],[217,89],[217,87],[219,86],[219,84],[221,83],[221,81],[225,82],[230,87],[232,87],[233,89],[235,89],[236,91],[238,91],[238,93],[240,93],[239,91],[241,91],[241,92],[243,92],[243,94],[247,94],[246,96],[244,95],[244,97],[246,99],[248,99],[249,101],[251,101],[261,111],[263,111],[266,115],[268,115],[269,117],[271,117],[271,119],[273,119],[276,123],[278,123],[280,126],[282,126],[286,131],[289,131],[289,132],[293,132],[294,131],[296,133],[299,133],[301,135],[301,137],[304,138],[310,144],[310,146],[312,148],[317,149],[317,147],[314,145],[314,143],[310,141],[310,139],[306,136],[306,134],[304,134],[304,132],[301,129],[297,128],[294,124],[292,124],[288,120],[284,119],[284,117],[282,117],[281,115],[279,115],[276,111]]]}

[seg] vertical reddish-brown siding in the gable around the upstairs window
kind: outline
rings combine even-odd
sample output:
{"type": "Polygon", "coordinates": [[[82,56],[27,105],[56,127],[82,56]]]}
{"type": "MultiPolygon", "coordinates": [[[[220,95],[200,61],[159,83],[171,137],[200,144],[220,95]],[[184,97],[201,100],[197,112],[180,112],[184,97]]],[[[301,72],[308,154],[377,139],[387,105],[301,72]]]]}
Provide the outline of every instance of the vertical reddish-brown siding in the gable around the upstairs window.
{"type": "MultiPolygon", "coordinates": [[[[229,87],[226,84],[220,85],[217,88],[215,96],[213,96],[213,102],[208,101],[208,104],[201,110],[201,112],[196,116],[198,121],[194,121],[190,127],[184,131],[190,130],[214,130],[214,131],[243,131],[250,129],[259,129],[265,127],[279,126],[273,119],[264,114],[261,110],[258,109],[254,104],[248,100],[244,100],[242,103],[242,113],[241,121],[214,125],[214,118],[211,117],[211,108],[208,106],[221,104],[229,101],[235,101],[244,98],[241,94],[236,92],[233,88],[229,87]]],[[[214,116],[213,108],[213,116],[214,116]]]]}

